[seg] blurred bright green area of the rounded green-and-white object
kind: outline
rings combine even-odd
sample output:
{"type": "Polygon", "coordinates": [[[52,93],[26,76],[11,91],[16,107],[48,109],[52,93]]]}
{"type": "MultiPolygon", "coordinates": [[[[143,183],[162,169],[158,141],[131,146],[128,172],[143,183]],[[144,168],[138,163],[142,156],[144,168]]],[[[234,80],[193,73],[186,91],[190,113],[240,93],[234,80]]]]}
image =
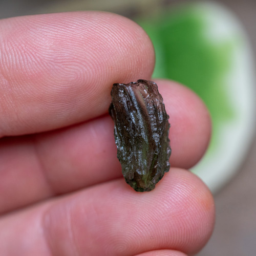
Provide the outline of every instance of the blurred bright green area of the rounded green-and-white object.
{"type": "MultiPolygon", "coordinates": [[[[225,87],[233,41],[212,41],[205,33],[205,14],[193,5],[167,11],[139,24],[156,49],[153,77],[185,84],[203,99],[212,117],[214,142],[222,120],[234,116],[225,87]]],[[[211,143],[211,147],[214,145],[211,143]]]]}

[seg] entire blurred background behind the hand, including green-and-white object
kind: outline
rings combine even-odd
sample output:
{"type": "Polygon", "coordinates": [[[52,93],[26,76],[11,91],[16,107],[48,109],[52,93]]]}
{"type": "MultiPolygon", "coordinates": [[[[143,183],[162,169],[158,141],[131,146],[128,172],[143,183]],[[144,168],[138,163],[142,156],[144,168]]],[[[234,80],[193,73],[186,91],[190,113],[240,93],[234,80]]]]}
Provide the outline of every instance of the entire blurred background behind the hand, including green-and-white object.
{"type": "Polygon", "coordinates": [[[153,77],[179,81],[204,100],[213,120],[212,141],[191,170],[214,193],[216,228],[197,255],[255,255],[256,1],[0,2],[0,18],[77,10],[111,11],[135,20],[156,49],[153,77]]]}

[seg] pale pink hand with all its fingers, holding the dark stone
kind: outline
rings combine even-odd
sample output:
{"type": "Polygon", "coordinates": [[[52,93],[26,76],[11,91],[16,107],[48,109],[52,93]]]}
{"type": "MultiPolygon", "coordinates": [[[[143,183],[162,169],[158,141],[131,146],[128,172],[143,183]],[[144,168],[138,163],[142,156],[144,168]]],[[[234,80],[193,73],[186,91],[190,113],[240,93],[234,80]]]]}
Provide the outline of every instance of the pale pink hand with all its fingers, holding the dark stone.
{"type": "Polygon", "coordinates": [[[210,138],[197,95],[155,80],[173,153],[153,191],[127,185],[116,158],[112,84],[150,80],[154,65],[150,39],[122,16],[0,20],[1,255],[184,256],[205,245],[214,201],[186,170],[210,138]]]}

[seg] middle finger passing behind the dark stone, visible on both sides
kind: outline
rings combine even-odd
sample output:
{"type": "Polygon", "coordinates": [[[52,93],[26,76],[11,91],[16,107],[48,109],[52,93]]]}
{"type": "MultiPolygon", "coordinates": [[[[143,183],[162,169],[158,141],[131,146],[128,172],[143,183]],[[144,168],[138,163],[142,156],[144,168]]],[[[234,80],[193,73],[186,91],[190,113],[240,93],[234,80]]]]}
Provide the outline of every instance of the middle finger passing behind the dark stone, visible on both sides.
{"type": "MultiPolygon", "coordinates": [[[[207,147],[208,112],[187,88],[157,82],[172,125],[170,164],[189,168],[207,147]]],[[[111,118],[103,116],[67,129],[2,140],[0,212],[121,177],[113,130],[111,118]]]]}

